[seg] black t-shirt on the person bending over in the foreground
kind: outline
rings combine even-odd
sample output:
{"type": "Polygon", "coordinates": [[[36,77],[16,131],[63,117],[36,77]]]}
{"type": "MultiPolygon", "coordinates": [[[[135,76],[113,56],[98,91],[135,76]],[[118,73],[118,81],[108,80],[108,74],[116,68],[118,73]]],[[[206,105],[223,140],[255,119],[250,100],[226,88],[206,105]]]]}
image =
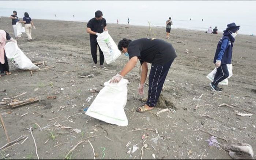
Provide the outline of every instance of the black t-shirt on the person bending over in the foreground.
{"type": "Polygon", "coordinates": [[[172,44],[165,40],[154,38],[133,40],[128,45],[128,54],[130,59],[138,56],[141,65],[144,62],[163,65],[177,57],[172,44]]]}

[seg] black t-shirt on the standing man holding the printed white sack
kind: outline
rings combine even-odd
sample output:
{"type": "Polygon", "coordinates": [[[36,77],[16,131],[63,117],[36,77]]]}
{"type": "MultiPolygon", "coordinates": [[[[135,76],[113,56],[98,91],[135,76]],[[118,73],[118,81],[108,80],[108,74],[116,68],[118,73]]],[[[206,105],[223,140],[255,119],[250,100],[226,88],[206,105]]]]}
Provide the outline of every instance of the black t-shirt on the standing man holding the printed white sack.
{"type": "MultiPolygon", "coordinates": [[[[92,31],[97,33],[102,33],[103,28],[107,26],[107,22],[105,18],[102,18],[102,20],[96,20],[96,18],[92,18],[87,23],[87,27],[91,28],[92,31]]],[[[97,35],[90,34],[90,39],[97,38],[97,35]]]]}

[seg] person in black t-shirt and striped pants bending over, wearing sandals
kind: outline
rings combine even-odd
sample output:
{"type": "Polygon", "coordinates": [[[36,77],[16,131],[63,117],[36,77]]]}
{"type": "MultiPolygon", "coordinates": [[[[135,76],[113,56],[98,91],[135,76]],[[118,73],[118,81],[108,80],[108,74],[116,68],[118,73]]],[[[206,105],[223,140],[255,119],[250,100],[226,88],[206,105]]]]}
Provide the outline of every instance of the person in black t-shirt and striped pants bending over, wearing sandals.
{"type": "Polygon", "coordinates": [[[129,56],[129,62],[123,70],[112,77],[110,83],[118,83],[127,75],[136,65],[138,60],[142,66],[142,73],[138,93],[144,94],[144,83],[147,78],[148,65],[151,63],[151,70],[148,77],[148,98],[146,104],[136,109],[137,112],[146,112],[154,109],[157,105],[159,95],[162,91],[163,83],[172,62],[177,57],[172,44],[162,39],[142,38],[137,40],[122,39],[118,43],[118,49],[129,56]]]}

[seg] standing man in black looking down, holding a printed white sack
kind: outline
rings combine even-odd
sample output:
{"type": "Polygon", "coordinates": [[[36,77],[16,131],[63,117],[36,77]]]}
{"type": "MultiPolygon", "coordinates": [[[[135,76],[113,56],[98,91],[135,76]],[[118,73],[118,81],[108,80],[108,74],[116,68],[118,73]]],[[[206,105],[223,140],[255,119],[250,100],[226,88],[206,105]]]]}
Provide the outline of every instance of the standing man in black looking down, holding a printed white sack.
{"type": "MultiPolygon", "coordinates": [[[[106,19],[102,17],[103,13],[101,11],[95,12],[95,17],[90,19],[87,23],[86,32],[90,34],[90,43],[91,43],[91,55],[93,57],[93,62],[97,64],[97,36],[104,31],[107,31],[107,22],[106,19]]],[[[99,64],[100,67],[103,68],[104,63],[104,55],[99,47],[99,64]]]]}

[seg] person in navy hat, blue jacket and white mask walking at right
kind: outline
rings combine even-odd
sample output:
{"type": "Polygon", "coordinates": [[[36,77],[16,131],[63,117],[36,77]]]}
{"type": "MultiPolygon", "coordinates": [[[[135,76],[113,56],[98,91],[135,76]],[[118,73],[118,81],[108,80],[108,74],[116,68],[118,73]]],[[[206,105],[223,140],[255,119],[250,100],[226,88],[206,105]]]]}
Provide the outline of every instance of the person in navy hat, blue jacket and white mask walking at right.
{"type": "Polygon", "coordinates": [[[223,31],[223,37],[219,40],[213,60],[217,72],[213,82],[210,83],[213,91],[221,92],[222,89],[218,87],[219,82],[229,77],[227,65],[232,63],[232,48],[239,28],[240,26],[237,26],[236,23],[227,24],[226,30],[223,31]]]}

